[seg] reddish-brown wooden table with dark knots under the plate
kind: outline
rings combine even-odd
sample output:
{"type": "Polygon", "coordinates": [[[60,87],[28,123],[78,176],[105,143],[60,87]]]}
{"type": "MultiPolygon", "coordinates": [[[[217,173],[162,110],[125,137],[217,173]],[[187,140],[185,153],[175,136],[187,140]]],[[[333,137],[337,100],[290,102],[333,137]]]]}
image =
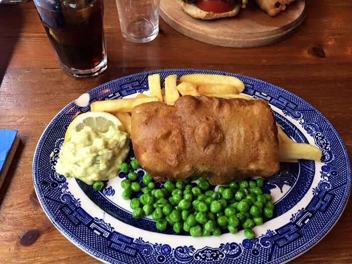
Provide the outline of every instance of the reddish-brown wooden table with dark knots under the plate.
{"type": "MultiPolygon", "coordinates": [[[[187,38],[160,22],[159,36],[134,44],[121,36],[114,1],[106,0],[109,68],[76,80],[58,66],[33,3],[0,5],[0,128],[20,131],[22,144],[0,190],[0,263],[97,263],[50,223],[32,182],[37,141],[54,115],[98,84],[141,71],[206,68],[256,77],[319,109],[352,153],[352,2],[307,1],[307,18],[287,40],[234,49],[187,38]]],[[[331,232],[294,263],[351,263],[351,203],[331,232]]]]}

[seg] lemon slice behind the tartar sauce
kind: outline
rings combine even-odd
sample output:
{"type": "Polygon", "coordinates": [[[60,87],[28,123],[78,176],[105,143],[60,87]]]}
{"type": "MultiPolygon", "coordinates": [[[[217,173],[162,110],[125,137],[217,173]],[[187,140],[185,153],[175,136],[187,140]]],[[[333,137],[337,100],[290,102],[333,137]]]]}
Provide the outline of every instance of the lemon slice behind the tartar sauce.
{"type": "Polygon", "coordinates": [[[124,126],[116,116],[105,112],[87,112],[72,120],[66,130],[64,142],[68,142],[73,133],[80,131],[85,126],[91,127],[95,132],[105,133],[110,126],[115,126],[118,130],[125,132],[124,126]]]}

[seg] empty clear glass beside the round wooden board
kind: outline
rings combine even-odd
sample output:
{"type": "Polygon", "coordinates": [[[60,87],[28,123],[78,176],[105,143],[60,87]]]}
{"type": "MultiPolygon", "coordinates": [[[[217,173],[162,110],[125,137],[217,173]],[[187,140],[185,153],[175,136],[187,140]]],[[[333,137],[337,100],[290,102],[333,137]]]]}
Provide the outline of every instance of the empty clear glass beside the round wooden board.
{"type": "Polygon", "coordinates": [[[159,33],[160,0],[116,0],[122,35],[145,43],[159,33]]]}

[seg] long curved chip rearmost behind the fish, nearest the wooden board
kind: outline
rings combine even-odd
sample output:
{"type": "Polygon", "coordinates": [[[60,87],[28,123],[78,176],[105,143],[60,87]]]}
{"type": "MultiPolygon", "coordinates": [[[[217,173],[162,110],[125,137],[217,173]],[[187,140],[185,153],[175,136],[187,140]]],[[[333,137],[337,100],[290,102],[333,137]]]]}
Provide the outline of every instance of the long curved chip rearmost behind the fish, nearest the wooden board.
{"type": "Polygon", "coordinates": [[[180,78],[180,80],[181,82],[191,82],[197,86],[202,84],[224,84],[236,87],[238,92],[242,92],[244,90],[244,83],[240,79],[232,76],[198,73],[184,75],[180,78]]]}

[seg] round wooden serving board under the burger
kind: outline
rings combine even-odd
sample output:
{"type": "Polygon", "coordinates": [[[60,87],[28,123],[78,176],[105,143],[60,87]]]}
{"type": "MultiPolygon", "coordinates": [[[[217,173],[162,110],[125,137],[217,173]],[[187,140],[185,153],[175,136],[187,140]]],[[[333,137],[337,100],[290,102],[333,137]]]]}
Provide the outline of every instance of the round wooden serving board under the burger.
{"type": "Polygon", "coordinates": [[[298,27],[305,17],[305,0],[296,0],[276,17],[270,17],[254,1],[237,16],[217,20],[194,19],[176,0],[161,0],[162,19],[180,33],[213,45],[248,48],[273,44],[298,27]]]}

